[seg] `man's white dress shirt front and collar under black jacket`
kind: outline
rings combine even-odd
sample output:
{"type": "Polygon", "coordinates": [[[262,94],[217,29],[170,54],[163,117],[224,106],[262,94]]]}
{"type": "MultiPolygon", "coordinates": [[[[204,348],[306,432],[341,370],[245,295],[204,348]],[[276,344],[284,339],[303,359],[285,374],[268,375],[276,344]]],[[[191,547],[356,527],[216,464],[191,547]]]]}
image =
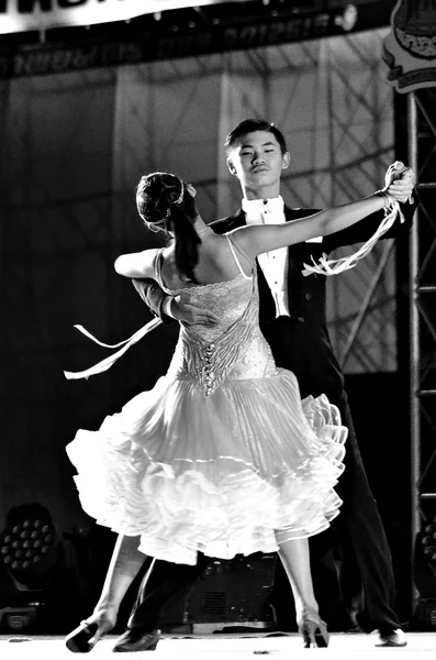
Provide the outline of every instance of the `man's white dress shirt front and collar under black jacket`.
{"type": "MultiPolygon", "coordinates": [[[[247,224],[279,224],[286,222],[281,196],[273,199],[246,199],[242,201],[247,224]]],[[[288,305],[288,248],[264,252],[257,257],[276,304],[276,317],[291,316],[288,305]]]]}

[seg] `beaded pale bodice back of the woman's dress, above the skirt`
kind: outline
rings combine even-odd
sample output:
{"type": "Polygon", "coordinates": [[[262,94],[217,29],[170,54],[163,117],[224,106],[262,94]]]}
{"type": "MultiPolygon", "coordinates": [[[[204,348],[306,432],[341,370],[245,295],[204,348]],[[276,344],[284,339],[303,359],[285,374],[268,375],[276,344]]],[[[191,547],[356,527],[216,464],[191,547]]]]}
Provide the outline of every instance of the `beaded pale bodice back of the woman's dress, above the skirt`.
{"type": "MultiPolygon", "coordinates": [[[[168,289],[171,296],[183,289],[168,289]]],[[[228,282],[189,286],[194,305],[220,317],[213,326],[180,324],[168,376],[194,378],[206,396],[225,380],[258,378],[276,372],[270,348],[258,324],[257,277],[243,274],[228,282]]]]}

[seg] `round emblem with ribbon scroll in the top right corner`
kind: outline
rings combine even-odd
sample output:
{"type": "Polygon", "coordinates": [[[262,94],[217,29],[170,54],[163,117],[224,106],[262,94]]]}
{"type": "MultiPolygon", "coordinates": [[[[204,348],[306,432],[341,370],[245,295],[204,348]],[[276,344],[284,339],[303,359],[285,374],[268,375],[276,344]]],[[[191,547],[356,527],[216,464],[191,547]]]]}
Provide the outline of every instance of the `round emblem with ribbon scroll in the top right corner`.
{"type": "Polygon", "coordinates": [[[436,87],[436,1],[400,0],[384,40],[383,59],[388,80],[405,94],[436,87]]]}

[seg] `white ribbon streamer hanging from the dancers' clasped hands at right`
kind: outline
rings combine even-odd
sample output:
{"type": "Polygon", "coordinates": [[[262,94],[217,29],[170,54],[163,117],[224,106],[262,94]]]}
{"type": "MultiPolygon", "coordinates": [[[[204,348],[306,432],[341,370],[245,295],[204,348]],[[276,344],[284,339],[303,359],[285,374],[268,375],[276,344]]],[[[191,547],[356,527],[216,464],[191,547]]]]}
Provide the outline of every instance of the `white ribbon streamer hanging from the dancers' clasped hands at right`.
{"type": "Polygon", "coordinates": [[[312,256],[313,265],[303,264],[304,271],[302,271],[302,274],[304,277],[308,277],[308,275],[313,275],[314,273],[329,277],[331,275],[338,275],[344,271],[354,268],[357,263],[364,258],[364,256],[367,256],[367,254],[371,252],[380,237],[392,227],[398,213],[402,215],[399,202],[392,198],[389,198],[389,206],[385,209],[385,213],[387,215],[380,222],[376,233],[373,233],[372,237],[368,239],[368,241],[364,243],[364,245],[359,248],[357,252],[340,258],[327,258],[327,255],[324,253],[318,263],[316,263],[312,256]]]}

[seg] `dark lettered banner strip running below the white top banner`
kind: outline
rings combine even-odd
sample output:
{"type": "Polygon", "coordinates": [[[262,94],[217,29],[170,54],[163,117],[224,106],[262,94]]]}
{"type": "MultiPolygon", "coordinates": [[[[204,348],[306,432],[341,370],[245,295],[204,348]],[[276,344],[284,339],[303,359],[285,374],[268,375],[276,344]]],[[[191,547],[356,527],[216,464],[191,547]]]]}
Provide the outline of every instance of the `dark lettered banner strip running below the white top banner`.
{"type": "MultiPolygon", "coordinates": [[[[0,0],[1,1],[1,0],[0,0]]],[[[264,20],[247,15],[245,22],[204,25],[197,30],[181,26],[174,32],[164,21],[150,21],[138,38],[136,32],[121,31],[120,38],[80,38],[63,44],[40,43],[32,47],[11,44],[0,47],[0,80],[23,76],[40,76],[85,70],[94,67],[121,66],[200,57],[247,48],[278,46],[292,42],[342,36],[354,31],[376,30],[389,25],[392,7],[380,2],[374,15],[373,4],[361,4],[359,11],[347,7],[328,12],[268,16],[264,20]]],[[[91,31],[90,31],[91,32],[91,31]]]]}

